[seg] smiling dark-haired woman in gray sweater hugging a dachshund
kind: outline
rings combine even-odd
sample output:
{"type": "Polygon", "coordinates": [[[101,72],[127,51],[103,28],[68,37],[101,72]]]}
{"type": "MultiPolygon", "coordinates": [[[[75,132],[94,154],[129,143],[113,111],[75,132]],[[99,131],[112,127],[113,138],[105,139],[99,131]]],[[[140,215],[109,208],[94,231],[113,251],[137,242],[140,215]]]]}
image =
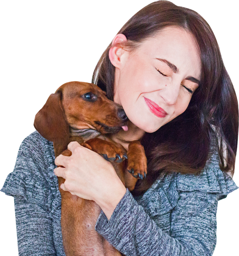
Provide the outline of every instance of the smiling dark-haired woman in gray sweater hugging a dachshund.
{"type": "Polygon", "coordinates": [[[2,188],[14,196],[19,255],[64,255],[55,175],[100,205],[95,229],[123,254],[212,255],[218,200],[237,190],[238,102],[207,22],[152,2],[114,37],[93,82],[123,106],[128,131],[112,139],[126,149],[140,139],[148,174],[131,194],[109,162],[76,142],[55,168],[52,143],[33,132],[2,188]]]}

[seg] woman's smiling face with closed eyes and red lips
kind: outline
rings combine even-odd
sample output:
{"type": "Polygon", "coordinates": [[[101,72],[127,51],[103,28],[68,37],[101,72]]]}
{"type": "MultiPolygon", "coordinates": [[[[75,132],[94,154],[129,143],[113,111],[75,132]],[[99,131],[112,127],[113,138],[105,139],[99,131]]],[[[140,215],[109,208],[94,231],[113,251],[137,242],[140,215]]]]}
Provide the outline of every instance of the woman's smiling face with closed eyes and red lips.
{"type": "Polygon", "coordinates": [[[116,54],[114,101],[134,125],[154,132],[186,110],[201,76],[191,34],[166,27],[134,52],[116,54]]]}

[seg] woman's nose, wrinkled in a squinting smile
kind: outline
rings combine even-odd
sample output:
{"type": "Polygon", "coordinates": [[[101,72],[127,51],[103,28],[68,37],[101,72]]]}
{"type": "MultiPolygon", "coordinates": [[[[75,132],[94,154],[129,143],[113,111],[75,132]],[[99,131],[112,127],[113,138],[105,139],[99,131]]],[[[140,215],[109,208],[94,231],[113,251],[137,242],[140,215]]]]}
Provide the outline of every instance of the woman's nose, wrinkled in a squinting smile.
{"type": "Polygon", "coordinates": [[[167,83],[165,88],[160,90],[160,96],[163,98],[167,105],[173,105],[178,100],[181,82],[167,83]]]}

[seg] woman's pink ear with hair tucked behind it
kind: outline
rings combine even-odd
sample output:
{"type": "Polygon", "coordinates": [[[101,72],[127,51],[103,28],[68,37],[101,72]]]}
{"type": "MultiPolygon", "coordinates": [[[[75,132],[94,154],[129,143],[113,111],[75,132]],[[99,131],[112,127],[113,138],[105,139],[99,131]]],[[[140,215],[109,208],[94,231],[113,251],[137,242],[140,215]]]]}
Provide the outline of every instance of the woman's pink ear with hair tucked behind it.
{"type": "MultiPolygon", "coordinates": [[[[112,45],[126,41],[127,38],[125,37],[125,35],[117,34],[112,40],[112,45]]],[[[126,51],[120,45],[111,47],[109,51],[109,58],[112,65],[117,68],[120,68],[123,64],[125,53],[126,51]]]]}

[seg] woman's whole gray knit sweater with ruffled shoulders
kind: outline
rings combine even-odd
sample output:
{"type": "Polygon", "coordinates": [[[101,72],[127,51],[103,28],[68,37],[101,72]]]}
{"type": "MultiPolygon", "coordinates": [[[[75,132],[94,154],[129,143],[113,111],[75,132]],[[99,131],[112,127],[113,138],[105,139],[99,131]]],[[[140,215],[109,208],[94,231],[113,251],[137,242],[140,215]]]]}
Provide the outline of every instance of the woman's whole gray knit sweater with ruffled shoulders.
{"type": "MultiPolygon", "coordinates": [[[[125,193],[110,220],[103,211],[95,230],[126,256],[209,256],[217,243],[218,200],[238,189],[218,166],[216,148],[199,176],[162,175],[141,197],[125,193]]],[[[53,144],[37,131],[17,153],[1,192],[14,198],[18,255],[65,255],[61,194],[53,144]]]]}

